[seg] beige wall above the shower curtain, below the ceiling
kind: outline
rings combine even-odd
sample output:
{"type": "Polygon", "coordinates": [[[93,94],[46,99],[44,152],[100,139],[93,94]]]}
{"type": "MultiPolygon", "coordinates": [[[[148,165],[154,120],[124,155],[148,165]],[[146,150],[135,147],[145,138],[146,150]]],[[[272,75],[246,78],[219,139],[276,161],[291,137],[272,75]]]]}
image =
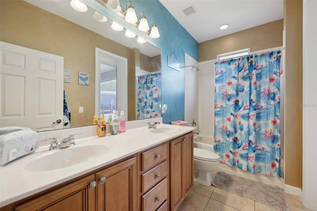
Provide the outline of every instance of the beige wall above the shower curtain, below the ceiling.
{"type": "Polygon", "coordinates": [[[250,48],[251,52],[283,45],[283,19],[199,44],[199,61],[250,48]]]}

